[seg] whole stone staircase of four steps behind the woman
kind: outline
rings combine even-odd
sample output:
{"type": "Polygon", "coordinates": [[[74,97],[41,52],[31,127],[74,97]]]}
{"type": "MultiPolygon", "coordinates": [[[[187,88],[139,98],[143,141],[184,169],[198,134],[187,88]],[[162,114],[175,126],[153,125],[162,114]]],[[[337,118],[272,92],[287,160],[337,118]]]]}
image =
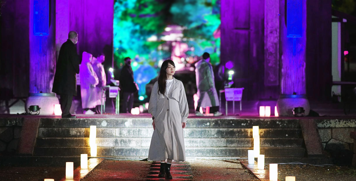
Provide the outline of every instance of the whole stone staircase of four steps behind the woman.
{"type": "MultiPolygon", "coordinates": [[[[90,155],[89,126],[96,125],[98,157],[145,159],[152,136],[150,118],[42,118],[33,156],[90,155]]],[[[297,119],[193,118],[184,129],[187,157],[247,157],[253,149],[252,126],[260,126],[261,154],[266,163],[307,162],[297,119]]]]}

